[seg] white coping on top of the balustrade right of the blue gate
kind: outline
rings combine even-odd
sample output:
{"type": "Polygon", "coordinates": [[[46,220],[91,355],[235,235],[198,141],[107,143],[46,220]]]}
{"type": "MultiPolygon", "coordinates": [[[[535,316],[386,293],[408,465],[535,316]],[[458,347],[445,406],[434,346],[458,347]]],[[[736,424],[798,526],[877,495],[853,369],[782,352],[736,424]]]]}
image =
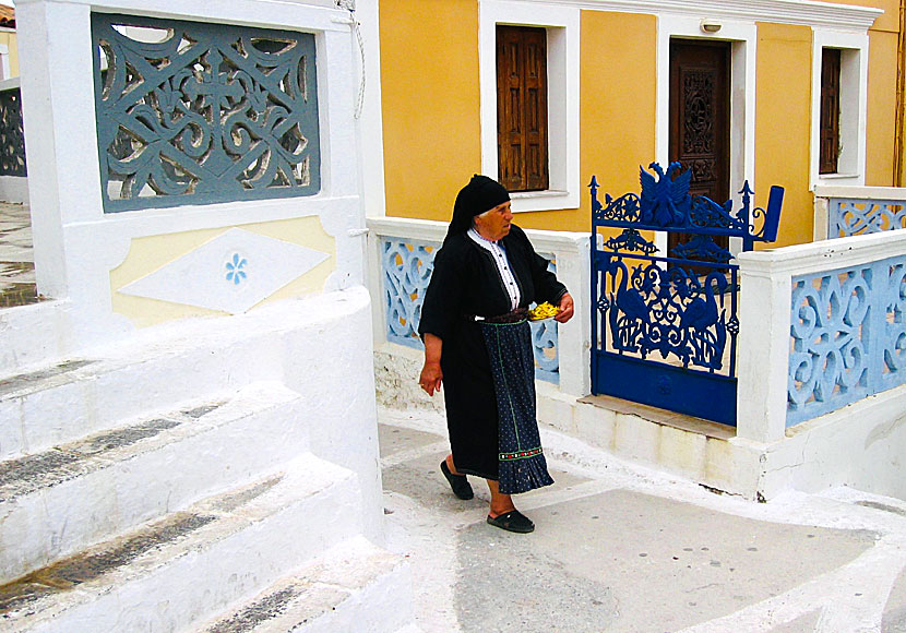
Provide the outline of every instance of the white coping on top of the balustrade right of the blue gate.
{"type": "Polygon", "coordinates": [[[880,262],[906,253],[906,229],[740,253],[739,267],[761,277],[809,275],[880,262]]]}

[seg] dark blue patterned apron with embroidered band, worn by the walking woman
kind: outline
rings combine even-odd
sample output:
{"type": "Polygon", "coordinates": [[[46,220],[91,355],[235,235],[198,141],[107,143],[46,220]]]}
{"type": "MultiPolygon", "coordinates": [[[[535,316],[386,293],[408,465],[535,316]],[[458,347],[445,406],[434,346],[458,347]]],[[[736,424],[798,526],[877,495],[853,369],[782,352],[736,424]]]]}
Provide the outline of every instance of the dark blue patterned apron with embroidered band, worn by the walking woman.
{"type": "Polygon", "coordinates": [[[535,415],[535,359],[527,321],[481,323],[499,415],[500,491],[527,492],[553,483],[535,415]]]}

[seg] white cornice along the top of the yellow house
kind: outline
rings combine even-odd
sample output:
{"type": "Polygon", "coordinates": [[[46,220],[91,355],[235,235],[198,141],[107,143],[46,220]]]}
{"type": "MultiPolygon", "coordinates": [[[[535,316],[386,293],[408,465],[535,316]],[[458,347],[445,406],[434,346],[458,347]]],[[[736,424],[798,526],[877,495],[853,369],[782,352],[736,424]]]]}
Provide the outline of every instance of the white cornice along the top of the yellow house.
{"type": "Polygon", "coordinates": [[[523,0],[594,11],[689,15],[700,19],[802,24],[822,28],[867,31],[883,9],[815,0],[523,0]]]}

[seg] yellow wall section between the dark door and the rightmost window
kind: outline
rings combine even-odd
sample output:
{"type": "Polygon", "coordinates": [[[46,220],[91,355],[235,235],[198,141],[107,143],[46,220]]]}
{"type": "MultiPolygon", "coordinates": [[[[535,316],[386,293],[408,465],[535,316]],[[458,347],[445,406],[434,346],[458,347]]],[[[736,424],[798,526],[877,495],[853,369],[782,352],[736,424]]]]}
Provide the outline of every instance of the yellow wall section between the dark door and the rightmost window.
{"type": "Polygon", "coordinates": [[[767,203],[772,184],[786,188],[773,246],[809,242],[814,204],[809,191],[812,32],[759,23],[758,38],[755,203],[767,203]]]}

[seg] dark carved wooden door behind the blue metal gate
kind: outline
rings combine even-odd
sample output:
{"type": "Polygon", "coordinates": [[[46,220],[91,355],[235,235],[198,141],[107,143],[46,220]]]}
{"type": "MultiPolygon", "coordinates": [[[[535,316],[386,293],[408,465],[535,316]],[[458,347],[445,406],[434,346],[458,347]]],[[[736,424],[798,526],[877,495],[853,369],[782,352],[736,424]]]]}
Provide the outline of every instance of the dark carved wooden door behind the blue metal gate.
{"type": "MultiPolygon", "coordinates": [[[[692,171],[689,192],[730,196],[730,44],[670,41],[670,162],[692,171]]],[[[670,234],[668,249],[691,236],[670,234]]],[[[726,237],[715,241],[727,248],[726,237]]]]}

